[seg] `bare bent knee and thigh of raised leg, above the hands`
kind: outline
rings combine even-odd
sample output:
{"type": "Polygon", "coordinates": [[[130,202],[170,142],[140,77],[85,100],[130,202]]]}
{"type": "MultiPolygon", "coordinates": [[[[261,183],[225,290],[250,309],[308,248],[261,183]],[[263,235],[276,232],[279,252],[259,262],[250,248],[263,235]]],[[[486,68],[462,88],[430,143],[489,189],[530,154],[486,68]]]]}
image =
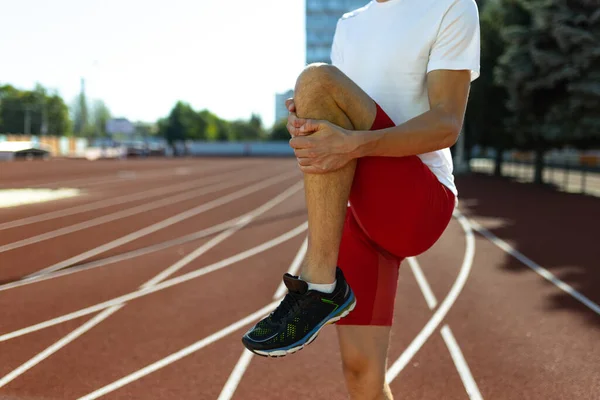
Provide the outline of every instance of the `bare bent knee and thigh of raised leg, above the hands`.
{"type": "MultiPolygon", "coordinates": [[[[304,102],[314,102],[315,97],[329,96],[350,119],[354,129],[370,129],[375,121],[375,101],[337,67],[329,64],[311,64],[296,82],[294,99],[298,110],[304,102]]],[[[301,116],[299,114],[299,116],[301,116]]]]}

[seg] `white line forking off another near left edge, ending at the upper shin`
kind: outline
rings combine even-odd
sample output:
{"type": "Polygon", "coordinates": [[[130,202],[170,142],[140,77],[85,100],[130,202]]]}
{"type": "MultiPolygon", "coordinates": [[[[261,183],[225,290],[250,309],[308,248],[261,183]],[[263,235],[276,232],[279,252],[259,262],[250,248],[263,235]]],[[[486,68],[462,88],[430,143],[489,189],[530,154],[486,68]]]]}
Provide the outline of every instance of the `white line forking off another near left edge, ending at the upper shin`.
{"type": "Polygon", "coordinates": [[[129,243],[129,242],[132,242],[134,240],[137,240],[137,239],[139,239],[139,238],[141,238],[143,236],[149,235],[149,234],[154,233],[154,232],[156,232],[158,230],[161,230],[161,229],[164,229],[164,228],[166,228],[168,226],[174,225],[174,224],[176,224],[178,222],[181,222],[181,221],[183,221],[183,220],[185,220],[187,218],[196,216],[196,215],[201,214],[201,213],[203,213],[205,211],[211,210],[213,208],[222,206],[224,204],[230,203],[230,202],[232,202],[234,200],[237,200],[239,198],[247,196],[248,194],[251,194],[251,193],[254,193],[254,192],[258,192],[259,190],[262,190],[262,189],[264,189],[266,187],[269,187],[269,186],[274,185],[276,183],[279,183],[279,182],[282,182],[284,180],[290,179],[290,178],[292,178],[295,175],[297,175],[297,172],[293,171],[293,172],[288,173],[288,174],[283,174],[283,175],[280,175],[280,176],[276,176],[276,177],[273,177],[273,178],[266,179],[266,180],[264,180],[262,182],[259,182],[257,184],[248,186],[248,187],[246,187],[244,189],[241,189],[241,190],[238,190],[238,191],[233,192],[231,194],[228,194],[226,196],[220,197],[220,198],[218,198],[216,200],[209,201],[208,203],[201,204],[201,205],[199,205],[197,207],[194,207],[194,208],[189,209],[187,211],[181,212],[179,214],[176,214],[176,215],[174,215],[172,217],[169,217],[167,219],[164,219],[164,220],[159,221],[157,223],[154,223],[152,225],[146,226],[145,228],[142,228],[142,229],[140,229],[138,231],[135,231],[135,232],[132,232],[132,233],[127,234],[125,236],[122,236],[122,237],[120,237],[118,239],[115,239],[113,241],[105,243],[105,244],[103,244],[101,246],[95,247],[95,248],[93,248],[91,250],[88,250],[88,251],[83,252],[81,254],[78,254],[76,256],[73,256],[73,257],[71,257],[71,258],[69,258],[67,260],[58,262],[58,263],[56,263],[54,265],[51,265],[51,266],[49,266],[47,268],[44,268],[44,269],[38,271],[37,273],[29,275],[28,277],[37,276],[37,275],[43,275],[43,274],[46,274],[46,273],[49,273],[49,272],[58,271],[59,269],[63,269],[65,267],[69,267],[69,266],[71,266],[73,264],[76,264],[78,262],[84,261],[84,260],[86,260],[86,259],[88,259],[90,257],[93,257],[95,255],[104,253],[104,252],[106,252],[108,250],[111,250],[111,249],[114,249],[116,247],[122,246],[122,245],[124,245],[126,243],[129,243]]]}

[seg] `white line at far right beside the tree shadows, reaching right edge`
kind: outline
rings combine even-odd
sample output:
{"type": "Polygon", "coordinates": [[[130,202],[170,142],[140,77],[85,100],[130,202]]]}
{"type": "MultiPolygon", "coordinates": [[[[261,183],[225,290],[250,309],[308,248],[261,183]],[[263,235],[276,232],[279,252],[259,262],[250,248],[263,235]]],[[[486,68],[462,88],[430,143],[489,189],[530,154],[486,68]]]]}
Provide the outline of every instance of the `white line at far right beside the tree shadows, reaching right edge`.
{"type": "Polygon", "coordinates": [[[473,226],[473,229],[475,229],[478,233],[483,235],[490,242],[494,243],[500,249],[504,250],[506,253],[510,254],[511,256],[513,256],[514,258],[516,258],[517,260],[521,261],[523,264],[525,264],[526,266],[528,266],[529,268],[534,270],[542,278],[546,279],[548,282],[552,283],[554,286],[558,287],[560,290],[569,294],[570,296],[575,298],[577,301],[579,301],[581,304],[583,304],[584,306],[586,306],[587,308],[589,308],[596,314],[600,315],[600,306],[598,304],[594,303],[592,300],[588,299],[585,295],[583,295],[582,293],[575,290],[568,283],[565,283],[562,280],[560,280],[559,278],[557,278],[556,275],[554,275],[552,272],[548,271],[546,268],[533,262],[530,258],[525,256],[523,253],[521,253],[520,251],[518,251],[517,249],[515,249],[508,243],[506,243],[504,240],[500,239],[498,236],[494,235],[492,232],[488,231],[487,229],[485,229],[484,227],[479,225],[477,222],[475,222],[473,220],[469,220],[469,222],[473,226]]]}

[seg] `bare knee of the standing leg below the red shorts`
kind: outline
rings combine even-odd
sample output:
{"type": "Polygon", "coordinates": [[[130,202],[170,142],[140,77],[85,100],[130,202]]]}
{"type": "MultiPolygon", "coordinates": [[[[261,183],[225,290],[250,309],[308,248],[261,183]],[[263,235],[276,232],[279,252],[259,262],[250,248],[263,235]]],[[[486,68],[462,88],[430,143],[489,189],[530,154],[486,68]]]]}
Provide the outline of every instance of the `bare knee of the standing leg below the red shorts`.
{"type": "Polygon", "coordinates": [[[391,399],[385,383],[385,368],[368,357],[343,357],[342,367],[350,398],[361,400],[391,399]]]}

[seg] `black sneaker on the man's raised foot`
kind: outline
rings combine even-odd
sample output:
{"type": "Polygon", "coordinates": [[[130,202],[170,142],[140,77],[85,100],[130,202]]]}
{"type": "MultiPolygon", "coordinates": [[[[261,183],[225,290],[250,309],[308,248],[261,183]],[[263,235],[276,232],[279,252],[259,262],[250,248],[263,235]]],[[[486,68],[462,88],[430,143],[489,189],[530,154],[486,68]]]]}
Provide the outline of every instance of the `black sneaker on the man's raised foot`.
{"type": "Polygon", "coordinates": [[[271,315],[246,332],[244,346],[260,356],[283,357],[310,344],[325,325],[339,321],[356,306],[354,293],[339,268],[336,279],[335,290],[329,294],[308,290],[306,282],[285,274],[288,294],[271,315]]]}

